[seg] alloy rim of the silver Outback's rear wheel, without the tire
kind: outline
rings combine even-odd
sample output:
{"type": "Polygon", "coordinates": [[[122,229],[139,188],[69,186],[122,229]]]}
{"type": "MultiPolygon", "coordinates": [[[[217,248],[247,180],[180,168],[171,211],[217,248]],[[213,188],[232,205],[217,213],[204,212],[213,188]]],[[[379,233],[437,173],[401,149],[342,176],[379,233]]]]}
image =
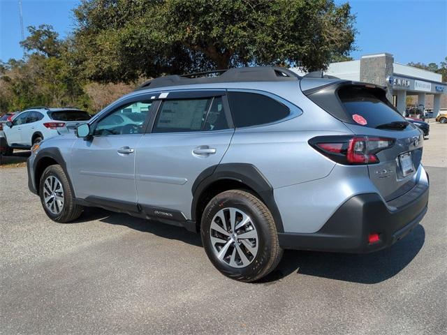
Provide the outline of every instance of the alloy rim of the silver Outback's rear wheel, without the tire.
{"type": "Polygon", "coordinates": [[[230,267],[247,267],[258,253],[259,238],[250,216],[234,207],[214,215],[210,226],[212,250],[230,267]]]}

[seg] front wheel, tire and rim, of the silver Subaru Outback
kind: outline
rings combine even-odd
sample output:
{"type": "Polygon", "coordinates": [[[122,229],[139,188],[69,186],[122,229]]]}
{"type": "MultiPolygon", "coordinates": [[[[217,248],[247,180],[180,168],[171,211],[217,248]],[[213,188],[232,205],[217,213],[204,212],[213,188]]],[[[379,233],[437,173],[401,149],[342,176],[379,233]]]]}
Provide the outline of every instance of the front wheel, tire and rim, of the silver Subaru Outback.
{"type": "Polygon", "coordinates": [[[79,218],[82,206],[75,204],[73,191],[60,165],[50,165],[42,174],[39,195],[45,213],[53,221],[67,223],[79,218]]]}

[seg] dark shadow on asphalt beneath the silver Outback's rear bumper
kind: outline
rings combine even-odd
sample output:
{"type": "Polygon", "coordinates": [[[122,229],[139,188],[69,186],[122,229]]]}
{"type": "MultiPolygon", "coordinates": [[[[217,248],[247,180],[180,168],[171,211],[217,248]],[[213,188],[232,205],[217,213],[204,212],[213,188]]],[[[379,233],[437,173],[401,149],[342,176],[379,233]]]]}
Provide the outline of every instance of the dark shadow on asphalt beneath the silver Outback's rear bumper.
{"type": "Polygon", "coordinates": [[[425,230],[417,225],[404,239],[375,253],[285,251],[277,269],[260,283],[277,281],[293,272],[352,283],[380,283],[404,269],[419,253],[424,241],[425,230]]]}

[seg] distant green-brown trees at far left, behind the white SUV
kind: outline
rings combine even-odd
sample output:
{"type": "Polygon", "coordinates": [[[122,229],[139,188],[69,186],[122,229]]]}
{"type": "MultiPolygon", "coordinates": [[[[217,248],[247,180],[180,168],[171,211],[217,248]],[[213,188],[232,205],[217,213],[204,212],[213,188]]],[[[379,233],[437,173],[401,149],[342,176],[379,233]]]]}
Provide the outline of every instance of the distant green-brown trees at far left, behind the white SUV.
{"type": "Polygon", "coordinates": [[[97,85],[78,75],[70,39],[59,40],[51,26],[29,27],[22,43],[23,60],[0,61],[0,113],[26,107],[75,105],[97,112],[117,95],[131,91],[126,85],[97,85]],[[99,102],[99,103],[98,103],[99,102]]]}

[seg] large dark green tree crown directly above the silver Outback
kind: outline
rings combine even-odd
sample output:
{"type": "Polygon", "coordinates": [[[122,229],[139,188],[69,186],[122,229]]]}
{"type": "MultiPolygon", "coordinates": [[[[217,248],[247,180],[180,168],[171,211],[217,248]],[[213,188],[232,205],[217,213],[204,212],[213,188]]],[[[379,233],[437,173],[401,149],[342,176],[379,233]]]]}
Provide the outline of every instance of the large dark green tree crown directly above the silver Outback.
{"type": "Polygon", "coordinates": [[[353,50],[349,3],[333,0],[82,0],[78,66],[102,82],[245,65],[325,69],[353,50]]]}

